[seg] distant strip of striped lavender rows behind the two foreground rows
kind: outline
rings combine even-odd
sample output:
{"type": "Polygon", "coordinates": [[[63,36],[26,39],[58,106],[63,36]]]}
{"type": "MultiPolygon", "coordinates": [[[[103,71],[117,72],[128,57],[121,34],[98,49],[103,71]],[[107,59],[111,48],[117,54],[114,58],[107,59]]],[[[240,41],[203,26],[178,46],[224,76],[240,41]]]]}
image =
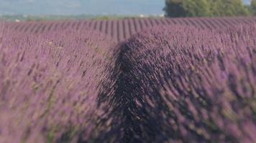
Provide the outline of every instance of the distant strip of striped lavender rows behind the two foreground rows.
{"type": "Polygon", "coordinates": [[[43,21],[9,23],[10,29],[26,33],[41,34],[47,31],[59,31],[63,29],[88,28],[101,31],[116,42],[129,39],[144,29],[154,26],[186,25],[195,26],[198,29],[225,29],[237,24],[253,24],[256,17],[227,17],[227,18],[130,18],[116,20],[83,20],[83,21],[43,21]]]}

